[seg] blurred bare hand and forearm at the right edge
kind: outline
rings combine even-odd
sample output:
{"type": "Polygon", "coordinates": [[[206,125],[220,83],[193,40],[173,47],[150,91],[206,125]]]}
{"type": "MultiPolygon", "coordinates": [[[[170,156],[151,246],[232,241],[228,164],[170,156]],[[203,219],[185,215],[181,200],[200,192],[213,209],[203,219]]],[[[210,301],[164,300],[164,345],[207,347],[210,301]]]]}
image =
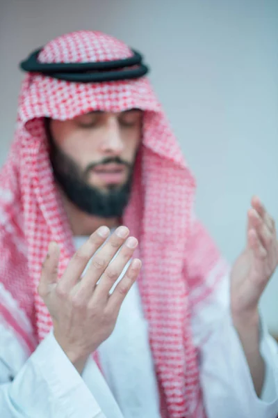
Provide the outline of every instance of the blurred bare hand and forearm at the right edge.
{"type": "Polygon", "coordinates": [[[259,300],[278,264],[275,221],[259,197],[247,213],[246,247],[231,270],[231,315],[254,382],[261,394],[265,365],[259,350],[259,300]]]}

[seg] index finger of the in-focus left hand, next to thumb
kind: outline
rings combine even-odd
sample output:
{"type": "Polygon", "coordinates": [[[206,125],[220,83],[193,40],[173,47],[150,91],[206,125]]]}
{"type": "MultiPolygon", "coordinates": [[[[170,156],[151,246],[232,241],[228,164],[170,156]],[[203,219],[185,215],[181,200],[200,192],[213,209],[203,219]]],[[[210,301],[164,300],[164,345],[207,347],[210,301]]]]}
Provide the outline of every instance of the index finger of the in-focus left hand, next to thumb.
{"type": "Polygon", "coordinates": [[[67,269],[63,274],[57,285],[57,290],[60,292],[70,291],[73,286],[79,281],[81,274],[85,270],[86,265],[95,254],[97,249],[104,244],[110,231],[107,226],[101,226],[97,231],[90,235],[90,238],[76,251],[67,269]]]}

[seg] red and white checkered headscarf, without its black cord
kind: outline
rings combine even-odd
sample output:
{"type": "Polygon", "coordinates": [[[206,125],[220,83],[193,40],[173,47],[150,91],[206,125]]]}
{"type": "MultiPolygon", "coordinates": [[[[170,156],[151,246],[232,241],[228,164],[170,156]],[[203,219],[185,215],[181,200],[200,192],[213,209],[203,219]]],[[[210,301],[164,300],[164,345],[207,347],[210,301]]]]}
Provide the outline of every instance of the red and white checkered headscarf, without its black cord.
{"type": "MultiPolygon", "coordinates": [[[[109,61],[131,54],[129,47],[111,36],[79,31],[49,42],[39,60],[109,61]]],[[[72,232],[49,163],[43,118],[65,120],[97,109],[130,108],[142,109],[145,116],[124,224],[140,242],[136,256],[142,259],[143,269],[138,284],[161,402],[167,417],[201,418],[205,413],[190,332],[190,304],[213,291],[223,270],[213,242],[193,219],[195,182],[147,78],[81,84],[39,74],[26,76],[15,141],[0,174],[0,279],[31,320],[34,337],[24,332],[1,299],[0,314],[34,350],[52,325],[36,290],[49,242],[55,240],[60,246],[60,275],[74,254],[72,232]]]]}

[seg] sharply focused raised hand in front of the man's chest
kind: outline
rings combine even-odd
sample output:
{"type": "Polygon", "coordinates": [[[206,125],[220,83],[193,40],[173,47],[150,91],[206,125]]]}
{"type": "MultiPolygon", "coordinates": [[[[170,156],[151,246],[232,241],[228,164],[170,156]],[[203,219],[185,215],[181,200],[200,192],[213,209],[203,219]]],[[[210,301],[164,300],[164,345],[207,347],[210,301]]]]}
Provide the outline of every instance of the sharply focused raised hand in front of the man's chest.
{"type": "Polygon", "coordinates": [[[120,226],[99,249],[109,232],[106,226],[95,231],[76,252],[59,281],[59,249],[51,242],[38,287],[53,319],[56,340],[74,365],[82,364],[81,369],[90,353],[113,331],[124,297],[141,268],[140,260],[134,259],[110,295],[138,241],[128,238],[129,229],[120,226]],[[95,254],[97,249],[99,251],[95,254]],[[119,254],[111,262],[119,249],[119,254]],[[81,277],[91,258],[87,272],[81,277]]]}

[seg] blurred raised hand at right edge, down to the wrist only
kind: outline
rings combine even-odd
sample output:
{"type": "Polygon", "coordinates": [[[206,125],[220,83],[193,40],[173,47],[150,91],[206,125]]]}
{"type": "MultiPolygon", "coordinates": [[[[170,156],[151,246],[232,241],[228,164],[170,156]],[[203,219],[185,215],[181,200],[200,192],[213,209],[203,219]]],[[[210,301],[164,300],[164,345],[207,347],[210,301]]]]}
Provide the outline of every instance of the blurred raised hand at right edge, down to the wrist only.
{"type": "Polygon", "coordinates": [[[247,246],[231,270],[231,312],[234,320],[258,320],[258,304],[278,264],[275,222],[258,197],[248,212],[247,246]]]}

